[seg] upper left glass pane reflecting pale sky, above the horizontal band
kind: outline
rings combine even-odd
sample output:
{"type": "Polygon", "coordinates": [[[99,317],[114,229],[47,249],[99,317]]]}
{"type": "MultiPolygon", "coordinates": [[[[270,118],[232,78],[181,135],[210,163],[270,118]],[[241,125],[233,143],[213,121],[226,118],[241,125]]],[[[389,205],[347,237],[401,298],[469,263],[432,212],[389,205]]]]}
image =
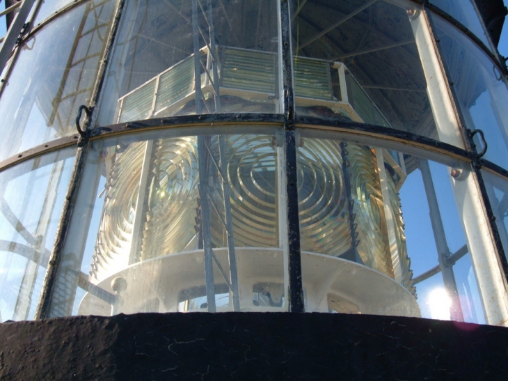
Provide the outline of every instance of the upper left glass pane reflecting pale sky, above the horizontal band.
{"type": "Polygon", "coordinates": [[[115,1],[89,1],[27,41],[0,97],[0,160],[75,134],[89,104],[115,1]]]}

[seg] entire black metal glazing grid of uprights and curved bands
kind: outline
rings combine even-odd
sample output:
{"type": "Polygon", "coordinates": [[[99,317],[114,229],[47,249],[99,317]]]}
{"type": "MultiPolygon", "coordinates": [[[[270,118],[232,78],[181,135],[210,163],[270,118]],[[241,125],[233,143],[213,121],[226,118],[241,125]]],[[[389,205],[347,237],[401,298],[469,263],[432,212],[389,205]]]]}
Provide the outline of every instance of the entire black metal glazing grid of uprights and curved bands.
{"type": "MultiPolygon", "coordinates": [[[[41,24],[33,27],[29,33],[27,33],[22,40],[20,40],[19,45],[13,51],[13,60],[10,63],[10,66],[7,70],[6,78],[8,78],[10,71],[13,68],[15,63],[15,59],[17,58],[17,54],[19,52],[19,46],[22,43],[31,38],[37,33],[42,27],[47,25],[49,22],[56,20],[63,13],[68,12],[70,9],[75,6],[84,3],[85,0],[79,0],[75,3],[66,6],[62,10],[59,10],[54,15],[51,15],[44,20],[41,24]]],[[[502,176],[505,179],[508,179],[508,170],[503,169],[500,166],[489,162],[488,160],[482,159],[479,153],[476,150],[475,143],[473,142],[473,137],[468,130],[466,130],[466,124],[464,123],[463,115],[461,114],[461,110],[457,107],[458,100],[457,94],[454,91],[453,83],[450,79],[450,70],[448,70],[445,60],[442,59],[443,52],[441,52],[439,40],[436,38],[436,28],[434,23],[429,17],[429,13],[434,13],[439,15],[440,17],[444,17],[447,22],[450,22],[455,27],[466,33],[466,35],[471,38],[477,46],[479,46],[482,51],[484,51],[493,61],[496,67],[498,67],[501,72],[507,76],[508,70],[507,68],[500,63],[500,57],[491,52],[491,50],[484,45],[484,43],[475,36],[474,33],[469,31],[465,26],[460,24],[453,17],[448,15],[447,13],[440,10],[438,7],[429,4],[428,0],[408,0],[413,3],[417,3],[420,6],[423,6],[424,14],[427,18],[427,22],[429,23],[431,33],[434,39],[434,45],[436,51],[438,53],[438,58],[440,59],[440,64],[443,67],[445,72],[445,76],[447,78],[447,86],[449,88],[450,94],[452,95],[452,99],[454,101],[454,109],[457,116],[457,120],[459,120],[459,124],[462,126],[462,135],[464,141],[467,142],[468,147],[466,149],[457,148],[455,146],[451,146],[450,144],[443,143],[440,141],[436,141],[434,139],[429,139],[427,137],[422,137],[420,135],[412,134],[410,132],[403,132],[399,130],[392,130],[387,127],[380,127],[377,125],[368,125],[363,123],[354,123],[354,122],[344,122],[343,120],[336,120],[333,118],[315,118],[308,116],[297,116],[294,111],[294,91],[293,91],[293,78],[292,78],[292,47],[291,47],[291,36],[290,36],[290,11],[289,11],[289,1],[288,0],[279,0],[278,1],[278,9],[279,9],[279,26],[280,26],[280,49],[279,54],[281,57],[280,62],[280,85],[281,85],[281,94],[280,96],[283,98],[283,112],[281,114],[198,114],[198,115],[189,115],[189,116],[177,116],[172,118],[154,118],[150,120],[138,120],[128,123],[121,123],[116,125],[111,125],[108,127],[99,127],[99,128],[90,128],[92,124],[91,121],[93,119],[93,111],[95,108],[95,104],[100,99],[102,87],[105,81],[106,68],[107,63],[109,62],[113,44],[116,38],[116,33],[118,31],[118,25],[120,23],[120,18],[122,17],[122,10],[124,8],[125,0],[118,1],[118,6],[116,8],[116,13],[113,20],[113,25],[111,27],[111,31],[108,37],[108,42],[106,45],[106,49],[104,51],[104,56],[100,65],[100,70],[97,75],[97,79],[95,82],[93,96],[90,100],[90,115],[85,120],[84,130],[85,133],[81,136],[79,134],[75,134],[72,137],[64,137],[58,139],[56,141],[51,141],[49,143],[43,144],[41,146],[31,148],[31,150],[26,150],[23,153],[19,153],[19,155],[15,155],[13,157],[8,158],[0,163],[0,171],[8,169],[10,166],[13,166],[19,162],[24,160],[29,160],[31,157],[35,157],[38,155],[42,155],[43,153],[50,152],[52,150],[57,150],[61,148],[65,148],[68,146],[72,146],[77,142],[77,156],[76,161],[74,162],[74,169],[72,171],[72,178],[70,181],[70,185],[68,188],[68,194],[65,198],[65,203],[63,206],[63,212],[61,215],[61,220],[58,225],[58,230],[56,233],[56,239],[54,243],[54,248],[51,252],[51,258],[49,260],[49,265],[47,269],[47,274],[45,277],[44,285],[42,288],[42,294],[40,297],[40,302],[38,305],[37,313],[35,315],[36,319],[45,318],[49,313],[49,305],[51,300],[51,292],[54,289],[54,282],[56,281],[56,274],[58,271],[58,263],[61,258],[61,251],[63,250],[63,244],[65,243],[68,225],[70,223],[70,219],[72,218],[72,210],[74,208],[74,202],[76,200],[77,192],[79,190],[79,184],[81,180],[81,173],[84,170],[84,163],[86,161],[86,153],[88,142],[90,140],[95,139],[104,139],[106,137],[111,137],[118,134],[130,134],[134,132],[145,132],[149,130],[163,130],[168,128],[175,127],[205,127],[205,126],[227,126],[227,125],[280,125],[280,127],[284,130],[284,155],[285,155],[285,187],[286,187],[286,196],[287,196],[287,256],[288,256],[288,274],[289,274],[289,292],[288,292],[288,300],[289,300],[289,311],[291,312],[303,312],[305,311],[305,306],[303,303],[303,286],[301,279],[301,258],[300,258],[300,231],[299,231],[299,210],[298,210],[298,194],[297,194],[297,171],[296,171],[296,127],[305,129],[316,129],[316,130],[329,130],[335,131],[338,134],[344,134],[345,137],[357,137],[358,139],[367,139],[368,141],[379,141],[383,142],[383,146],[392,144],[393,146],[406,146],[411,147],[415,150],[420,150],[420,152],[426,153],[427,156],[436,155],[436,157],[450,157],[453,160],[459,160],[461,162],[470,163],[471,169],[477,181],[477,185],[482,194],[482,201],[484,203],[486,215],[489,220],[489,230],[491,231],[495,248],[498,251],[498,257],[500,259],[500,263],[502,265],[502,269],[505,272],[505,277],[508,279],[508,261],[505,256],[505,250],[502,247],[502,242],[500,240],[500,234],[498,228],[495,224],[495,217],[493,214],[493,210],[491,208],[491,203],[487,196],[486,185],[484,182],[484,178],[480,169],[482,166],[489,171],[497,174],[498,176],[502,176]]],[[[38,8],[40,8],[40,2],[38,3],[38,8]]],[[[37,12],[33,14],[31,21],[35,20],[37,12]]],[[[488,36],[489,38],[489,36],[488,36]]],[[[506,78],[505,78],[506,79],[506,78]]],[[[2,84],[3,85],[3,84],[2,84]]],[[[1,86],[3,88],[3,86],[1,86]]],[[[0,88],[0,93],[2,91],[0,88]]]]}

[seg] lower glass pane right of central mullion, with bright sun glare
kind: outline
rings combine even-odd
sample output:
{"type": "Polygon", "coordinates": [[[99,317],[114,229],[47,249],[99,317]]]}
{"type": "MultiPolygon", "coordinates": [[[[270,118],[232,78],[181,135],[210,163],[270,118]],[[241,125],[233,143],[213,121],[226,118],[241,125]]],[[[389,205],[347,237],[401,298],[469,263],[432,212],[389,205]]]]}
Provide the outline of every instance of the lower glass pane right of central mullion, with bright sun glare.
{"type": "Polygon", "coordinates": [[[305,311],[495,319],[465,164],[311,130],[297,157],[305,311]]]}

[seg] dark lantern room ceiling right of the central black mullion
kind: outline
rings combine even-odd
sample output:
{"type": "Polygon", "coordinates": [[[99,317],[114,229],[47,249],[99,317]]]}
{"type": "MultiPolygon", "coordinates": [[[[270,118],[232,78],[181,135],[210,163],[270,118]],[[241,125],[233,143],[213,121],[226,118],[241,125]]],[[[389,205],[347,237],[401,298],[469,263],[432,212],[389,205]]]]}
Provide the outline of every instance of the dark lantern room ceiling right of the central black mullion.
{"type": "Polygon", "coordinates": [[[342,61],[392,127],[435,137],[406,10],[386,1],[309,0],[294,19],[292,37],[298,55],[342,61]]]}

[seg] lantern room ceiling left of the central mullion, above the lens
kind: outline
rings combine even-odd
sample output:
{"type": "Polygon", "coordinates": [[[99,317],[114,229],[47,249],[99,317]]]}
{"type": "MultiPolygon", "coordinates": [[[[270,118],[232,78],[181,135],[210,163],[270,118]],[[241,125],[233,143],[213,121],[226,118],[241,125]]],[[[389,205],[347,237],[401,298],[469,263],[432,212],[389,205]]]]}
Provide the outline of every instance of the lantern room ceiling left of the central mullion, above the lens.
{"type": "MultiPolygon", "coordinates": [[[[192,1],[150,0],[132,3],[127,10],[134,21],[132,31],[124,29],[129,43],[125,69],[133,72],[124,93],[193,54],[192,1]]],[[[277,52],[276,4],[214,0],[214,33],[223,46],[277,52]]],[[[209,43],[207,1],[198,2],[198,43],[209,43]],[[206,18],[205,18],[206,15],[206,18]],[[207,40],[207,42],[205,42],[207,40]]]]}

